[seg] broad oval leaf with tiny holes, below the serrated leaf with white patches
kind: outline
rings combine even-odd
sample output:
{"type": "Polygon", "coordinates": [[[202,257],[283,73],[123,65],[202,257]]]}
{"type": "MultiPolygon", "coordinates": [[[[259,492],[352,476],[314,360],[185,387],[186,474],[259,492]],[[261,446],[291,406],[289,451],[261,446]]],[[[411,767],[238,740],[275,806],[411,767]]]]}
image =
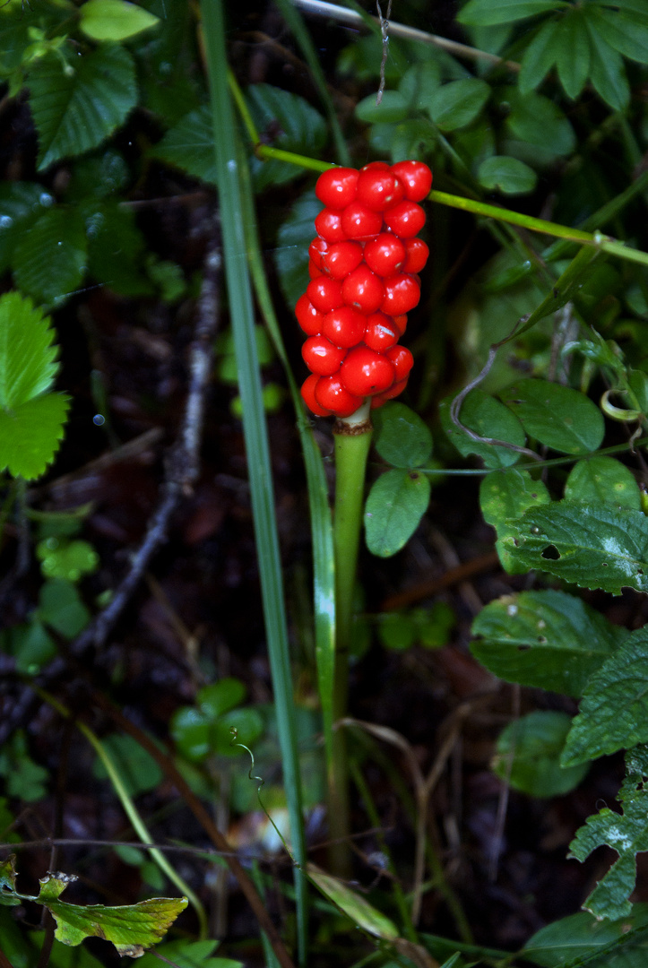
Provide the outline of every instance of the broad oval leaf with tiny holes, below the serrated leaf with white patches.
{"type": "Polygon", "coordinates": [[[490,602],[472,632],[471,651],[500,679],[576,697],[629,634],[580,598],[554,590],[490,602]]]}

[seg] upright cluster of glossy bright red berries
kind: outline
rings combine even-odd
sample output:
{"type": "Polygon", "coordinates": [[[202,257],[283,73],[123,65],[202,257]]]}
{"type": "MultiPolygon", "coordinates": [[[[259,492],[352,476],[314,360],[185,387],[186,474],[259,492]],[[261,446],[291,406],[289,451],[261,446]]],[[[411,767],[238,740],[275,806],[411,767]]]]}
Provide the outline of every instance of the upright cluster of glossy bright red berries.
{"type": "Polygon", "coordinates": [[[425,223],[417,202],[431,185],[421,162],[330,168],[318,179],[325,208],[295,306],[311,371],[301,395],[318,416],[351,416],[366,397],[382,407],[405,389],[414,360],[398,340],[420,296],[428,248],[416,238],[425,223]]]}

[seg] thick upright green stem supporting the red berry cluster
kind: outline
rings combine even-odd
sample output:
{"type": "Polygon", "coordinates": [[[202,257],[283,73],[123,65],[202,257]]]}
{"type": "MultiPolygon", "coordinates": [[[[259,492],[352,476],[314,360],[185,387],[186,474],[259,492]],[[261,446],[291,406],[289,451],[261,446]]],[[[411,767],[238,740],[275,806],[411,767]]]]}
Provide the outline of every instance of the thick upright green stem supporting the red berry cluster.
{"type": "MultiPolygon", "coordinates": [[[[333,718],[335,720],[347,714],[355,572],[362,526],[364,478],[372,437],[368,413],[367,402],[358,411],[355,425],[339,420],[333,432],[335,438],[333,545],[336,604],[333,718]]],[[[354,420],[355,416],[349,418],[350,421],[354,420]]],[[[331,839],[329,862],[338,876],[349,877],[351,854],[346,843],[350,832],[349,776],[347,743],[343,729],[337,729],[333,734],[332,753],[332,763],[328,769],[328,834],[331,839]]]]}

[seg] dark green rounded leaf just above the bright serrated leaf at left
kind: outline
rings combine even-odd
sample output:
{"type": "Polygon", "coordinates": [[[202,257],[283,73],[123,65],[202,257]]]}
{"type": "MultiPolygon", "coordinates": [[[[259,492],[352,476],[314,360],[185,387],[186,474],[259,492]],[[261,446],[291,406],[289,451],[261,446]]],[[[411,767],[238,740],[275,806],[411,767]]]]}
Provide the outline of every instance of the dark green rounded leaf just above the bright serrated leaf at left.
{"type": "Polygon", "coordinates": [[[48,209],[21,235],[12,261],[23,291],[47,306],[64,302],[80,286],[86,268],[81,212],[63,205],[48,209]]]}

